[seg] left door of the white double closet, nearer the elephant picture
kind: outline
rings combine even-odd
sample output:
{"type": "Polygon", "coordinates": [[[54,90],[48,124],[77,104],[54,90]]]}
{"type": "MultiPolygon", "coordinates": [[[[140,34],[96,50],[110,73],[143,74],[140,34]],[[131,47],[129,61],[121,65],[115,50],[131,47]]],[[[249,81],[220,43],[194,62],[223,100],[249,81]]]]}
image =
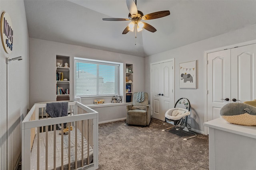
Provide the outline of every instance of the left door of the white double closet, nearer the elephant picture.
{"type": "Polygon", "coordinates": [[[207,118],[210,121],[220,117],[220,109],[230,102],[230,49],[209,53],[207,60],[207,118]]]}

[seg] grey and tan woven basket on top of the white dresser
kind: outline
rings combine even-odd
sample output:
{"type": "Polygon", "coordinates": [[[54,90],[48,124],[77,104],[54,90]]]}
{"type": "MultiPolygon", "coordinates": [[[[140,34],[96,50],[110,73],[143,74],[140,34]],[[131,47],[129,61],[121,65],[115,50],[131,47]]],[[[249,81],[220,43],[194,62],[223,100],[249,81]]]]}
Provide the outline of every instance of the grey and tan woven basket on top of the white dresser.
{"type": "Polygon", "coordinates": [[[220,109],[220,116],[229,123],[256,126],[256,100],[246,103],[226,104],[220,109]]]}

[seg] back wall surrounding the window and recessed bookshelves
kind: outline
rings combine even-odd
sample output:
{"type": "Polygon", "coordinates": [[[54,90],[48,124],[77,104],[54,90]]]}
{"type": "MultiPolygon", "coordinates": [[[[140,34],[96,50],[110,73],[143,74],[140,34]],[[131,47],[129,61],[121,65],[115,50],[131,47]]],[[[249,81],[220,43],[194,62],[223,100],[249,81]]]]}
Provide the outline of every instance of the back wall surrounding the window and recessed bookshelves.
{"type": "MultiPolygon", "coordinates": [[[[90,49],[76,45],[68,45],[64,43],[57,43],[34,38],[30,38],[29,50],[30,107],[32,107],[33,104],[37,102],[56,101],[56,55],[70,57],[70,100],[74,100],[74,57],[124,63],[124,68],[126,63],[133,64],[133,91],[144,91],[145,69],[144,58],[142,57],[90,49]]],[[[125,105],[122,106],[122,109],[118,107],[118,110],[121,110],[121,113],[119,113],[119,111],[116,111],[117,107],[103,107],[103,109],[101,107],[98,109],[99,121],[124,118],[126,117],[125,108],[125,105]]]]}

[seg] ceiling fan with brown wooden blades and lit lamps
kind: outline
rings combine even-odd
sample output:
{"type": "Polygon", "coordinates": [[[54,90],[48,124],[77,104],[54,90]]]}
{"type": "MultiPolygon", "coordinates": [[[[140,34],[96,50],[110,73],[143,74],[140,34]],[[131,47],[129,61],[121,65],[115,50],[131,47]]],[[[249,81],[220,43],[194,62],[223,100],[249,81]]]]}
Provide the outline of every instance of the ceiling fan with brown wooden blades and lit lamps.
{"type": "Polygon", "coordinates": [[[141,31],[142,28],[150,31],[150,32],[156,32],[156,29],[146,23],[146,22],[142,22],[141,20],[153,20],[156,18],[162,18],[165,16],[170,15],[170,11],[158,11],[158,12],[153,12],[151,14],[146,14],[144,15],[141,11],[137,10],[137,6],[136,6],[136,1],[134,2],[134,0],[126,0],[126,5],[128,7],[129,10],[129,14],[128,14],[128,18],[102,18],[103,21],[131,21],[129,23],[129,25],[124,29],[122,34],[126,34],[129,31],[134,31],[134,27],[136,26],[135,31],[141,31]]]}

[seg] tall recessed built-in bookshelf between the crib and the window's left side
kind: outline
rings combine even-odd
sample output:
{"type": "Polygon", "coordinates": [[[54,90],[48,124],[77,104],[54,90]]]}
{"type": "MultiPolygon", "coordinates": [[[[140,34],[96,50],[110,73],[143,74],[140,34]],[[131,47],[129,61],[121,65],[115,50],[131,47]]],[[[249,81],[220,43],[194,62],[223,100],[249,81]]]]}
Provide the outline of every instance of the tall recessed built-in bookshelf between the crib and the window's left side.
{"type": "Polygon", "coordinates": [[[69,94],[69,90],[70,90],[70,68],[69,67],[64,67],[65,63],[70,63],[69,61],[69,57],[66,56],[60,56],[57,55],[56,56],[56,100],[60,101],[60,100],[70,100],[70,94],[69,94]],[[62,64],[61,67],[57,66],[57,63],[62,64]],[[60,79],[60,74],[62,74],[62,79],[60,79]],[[58,76],[59,75],[59,76],[58,76]],[[67,80],[64,80],[67,79],[67,80]],[[60,94],[60,88],[63,89],[63,91],[65,92],[65,94],[60,94]]]}

